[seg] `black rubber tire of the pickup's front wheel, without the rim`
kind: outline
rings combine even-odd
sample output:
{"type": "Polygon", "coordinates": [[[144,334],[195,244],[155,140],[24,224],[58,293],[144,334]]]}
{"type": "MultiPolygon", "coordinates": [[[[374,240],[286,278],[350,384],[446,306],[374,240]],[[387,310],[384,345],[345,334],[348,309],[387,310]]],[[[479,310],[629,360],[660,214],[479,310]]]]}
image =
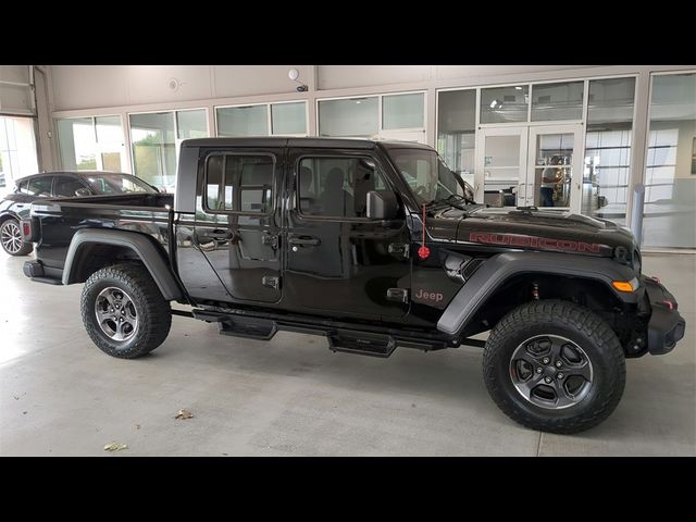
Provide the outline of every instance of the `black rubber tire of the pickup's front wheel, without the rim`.
{"type": "Polygon", "coordinates": [[[488,394],[510,419],[533,430],[571,434],[599,424],[616,409],[625,385],[625,357],[617,335],[597,314],[572,302],[540,300],[520,306],[496,324],[486,341],[483,373],[488,394]],[[539,335],[566,337],[589,359],[592,386],[580,402],[540,408],[515,388],[512,355],[539,335]]]}

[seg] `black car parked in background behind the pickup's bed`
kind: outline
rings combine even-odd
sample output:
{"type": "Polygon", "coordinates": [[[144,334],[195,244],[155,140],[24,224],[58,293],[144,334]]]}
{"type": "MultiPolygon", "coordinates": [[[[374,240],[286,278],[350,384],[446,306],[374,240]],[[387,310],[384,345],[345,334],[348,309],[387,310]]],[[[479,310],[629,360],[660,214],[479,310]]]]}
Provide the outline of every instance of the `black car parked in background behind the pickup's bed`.
{"type": "Polygon", "coordinates": [[[158,189],[130,174],[108,171],[45,172],[22,177],[14,191],[0,202],[0,244],[10,256],[26,256],[20,220],[28,217],[29,204],[40,198],[74,198],[129,192],[157,194],[158,189]]]}

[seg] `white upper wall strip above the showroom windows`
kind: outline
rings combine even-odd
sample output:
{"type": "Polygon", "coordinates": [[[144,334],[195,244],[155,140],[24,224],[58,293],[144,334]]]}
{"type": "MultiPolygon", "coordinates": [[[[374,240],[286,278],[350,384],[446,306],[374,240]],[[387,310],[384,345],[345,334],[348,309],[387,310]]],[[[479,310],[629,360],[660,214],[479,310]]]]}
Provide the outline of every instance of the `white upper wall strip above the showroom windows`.
{"type": "MultiPolygon", "coordinates": [[[[346,89],[582,70],[591,65],[318,65],[316,89],[346,89]]],[[[297,94],[287,77],[313,85],[312,65],[52,65],[53,110],[297,94]],[[171,83],[174,80],[174,88],[171,83]]]]}

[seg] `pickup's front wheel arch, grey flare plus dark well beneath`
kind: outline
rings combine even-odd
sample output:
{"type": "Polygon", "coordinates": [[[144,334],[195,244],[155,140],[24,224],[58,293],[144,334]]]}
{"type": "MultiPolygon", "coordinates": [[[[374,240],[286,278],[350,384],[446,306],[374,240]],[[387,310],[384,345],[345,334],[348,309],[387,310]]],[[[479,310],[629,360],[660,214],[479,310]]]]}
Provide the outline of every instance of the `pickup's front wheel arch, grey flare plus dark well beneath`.
{"type": "MultiPolygon", "coordinates": [[[[530,286],[544,282],[543,298],[564,298],[581,290],[594,301],[624,307],[637,303],[642,290],[619,293],[612,281],[630,281],[633,270],[608,258],[556,252],[505,252],[487,259],[445,309],[437,330],[451,336],[470,336],[489,330],[519,304],[533,300],[530,286]],[[505,297],[505,298],[502,298],[505,297]],[[482,323],[482,315],[490,316],[482,323]]],[[[592,307],[591,307],[592,308],[592,307]]]]}

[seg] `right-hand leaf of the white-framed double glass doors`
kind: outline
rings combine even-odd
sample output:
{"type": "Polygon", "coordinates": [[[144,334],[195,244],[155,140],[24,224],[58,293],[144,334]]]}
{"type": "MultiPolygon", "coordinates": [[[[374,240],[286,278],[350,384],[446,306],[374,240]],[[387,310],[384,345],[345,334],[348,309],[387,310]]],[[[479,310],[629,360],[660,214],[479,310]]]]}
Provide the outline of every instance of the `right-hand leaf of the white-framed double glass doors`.
{"type": "Polygon", "coordinates": [[[582,125],[531,126],[523,206],[580,212],[582,125]]]}

